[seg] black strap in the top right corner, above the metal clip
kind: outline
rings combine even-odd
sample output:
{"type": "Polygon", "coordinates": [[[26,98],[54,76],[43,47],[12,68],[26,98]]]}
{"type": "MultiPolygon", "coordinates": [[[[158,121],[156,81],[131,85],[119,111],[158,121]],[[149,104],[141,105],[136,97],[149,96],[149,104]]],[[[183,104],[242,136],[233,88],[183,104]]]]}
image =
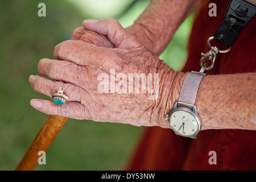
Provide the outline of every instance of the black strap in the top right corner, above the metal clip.
{"type": "Polygon", "coordinates": [[[256,6],[242,0],[232,0],[226,10],[225,20],[214,34],[214,40],[231,47],[243,28],[255,16],[256,6]]]}

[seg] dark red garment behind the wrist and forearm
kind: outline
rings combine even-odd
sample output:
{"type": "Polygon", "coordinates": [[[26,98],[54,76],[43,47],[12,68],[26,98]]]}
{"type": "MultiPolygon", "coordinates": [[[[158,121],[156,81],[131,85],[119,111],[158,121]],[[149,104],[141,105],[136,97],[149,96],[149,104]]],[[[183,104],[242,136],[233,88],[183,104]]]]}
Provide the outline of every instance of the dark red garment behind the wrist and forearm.
{"type": "MultiPolygon", "coordinates": [[[[189,56],[183,72],[199,71],[201,52],[208,52],[207,39],[224,20],[229,1],[204,1],[195,17],[189,39],[189,56]],[[209,3],[216,3],[217,17],[210,17],[209,3]]],[[[210,74],[256,71],[256,18],[253,18],[234,42],[229,53],[218,53],[210,74]]],[[[216,42],[211,42],[214,46],[216,42]]],[[[218,44],[218,47],[221,44],[218,44]]],[[[225,47],[222,47],[226,49],[225,47]]],[[[256,98],[255,98],[256,99],[256,98]]],[[[207,103],[205,103],[207,104],[207,103]]],[[[197,139],[174,134],[170,129],[147,127],[130,162],[129,170],[255,170],[256,131],[203,130],[197,139]],[[216,151],[217,164],[208,160],[216,151]]]]}

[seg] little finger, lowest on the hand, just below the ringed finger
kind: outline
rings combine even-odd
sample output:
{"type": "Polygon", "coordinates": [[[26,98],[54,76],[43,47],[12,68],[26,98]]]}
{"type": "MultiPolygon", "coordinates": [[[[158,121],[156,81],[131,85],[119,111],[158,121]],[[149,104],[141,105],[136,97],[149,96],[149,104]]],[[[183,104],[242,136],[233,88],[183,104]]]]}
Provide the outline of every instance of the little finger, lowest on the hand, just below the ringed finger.
{"type": "Polygon", "coordinates": [[[61,117],[73,118],[73,119],[88,119],[92,120],[86,106],[80,102],[68,102],[64,105],[56,105],[52,101],[33,99],[30,101],[30,105],[36,110],[39,110],[48,115],[59,115],[61,117]]]}

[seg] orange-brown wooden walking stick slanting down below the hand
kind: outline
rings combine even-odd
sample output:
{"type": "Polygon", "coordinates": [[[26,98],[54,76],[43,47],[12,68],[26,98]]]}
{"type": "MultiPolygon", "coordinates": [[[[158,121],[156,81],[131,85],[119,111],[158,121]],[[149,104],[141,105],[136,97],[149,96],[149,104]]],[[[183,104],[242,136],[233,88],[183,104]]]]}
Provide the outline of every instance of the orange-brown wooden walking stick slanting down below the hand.
{"type": "Polygon", "coordinates": [[[39,130],[35,139],[28,147],[26,154],[20,161],[16,171],[32,171],[38,164],[39,151],[46,152],[53,139],[59,133],[68,118],[49,115],[43,126],[39,130]]]}

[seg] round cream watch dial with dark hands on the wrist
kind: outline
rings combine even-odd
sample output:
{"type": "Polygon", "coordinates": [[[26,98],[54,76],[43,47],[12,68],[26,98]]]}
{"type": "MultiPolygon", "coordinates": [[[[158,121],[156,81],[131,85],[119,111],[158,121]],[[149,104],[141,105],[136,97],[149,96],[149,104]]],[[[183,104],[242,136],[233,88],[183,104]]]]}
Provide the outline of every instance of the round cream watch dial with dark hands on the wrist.
{"type": "Polygon", "coordinates": [[[184,110],[177,110],[171,114],[170,125],[176,134],[185,137],[191,137],[199,130],[199,124],[196,118],[184,110]]]}

